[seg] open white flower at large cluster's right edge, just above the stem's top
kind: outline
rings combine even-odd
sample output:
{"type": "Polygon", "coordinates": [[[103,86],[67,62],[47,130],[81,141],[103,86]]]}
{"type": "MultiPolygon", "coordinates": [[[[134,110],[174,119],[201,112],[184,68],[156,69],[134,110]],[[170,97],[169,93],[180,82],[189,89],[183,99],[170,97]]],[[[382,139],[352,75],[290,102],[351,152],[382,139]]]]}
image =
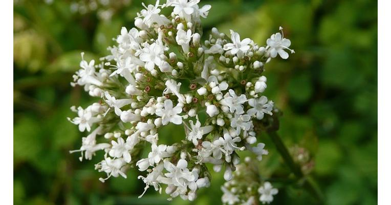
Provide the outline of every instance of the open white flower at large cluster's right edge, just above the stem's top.
{"type": "Polygon", "coordinates": [[[249,99],[248,104],[252,107],[247,110],[247,114],[256,115],[257,119],[263,119],[264,113],[273,115],[273,101],[268,102],[268,98],[266,96],[260,96],[259,98],[249,99]]]}

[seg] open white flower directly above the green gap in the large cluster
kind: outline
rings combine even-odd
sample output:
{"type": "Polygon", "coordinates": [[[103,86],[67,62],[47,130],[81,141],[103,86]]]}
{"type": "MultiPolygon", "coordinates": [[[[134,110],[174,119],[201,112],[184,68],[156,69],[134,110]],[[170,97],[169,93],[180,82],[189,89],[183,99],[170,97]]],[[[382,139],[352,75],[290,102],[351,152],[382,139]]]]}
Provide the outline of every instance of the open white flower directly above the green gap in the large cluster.
{"type": "Polygon", "coordinates": [[[172,122],[176,125],[182,124],[182,117],[178,114],[182,113],[182,108],[180,106],[172,107],[172,101],[166,99],[164,101],[164,109],[159,108],[156,110],[156,115],[162,117],[162,124],[167,125],[168,122],[172,122]]]}

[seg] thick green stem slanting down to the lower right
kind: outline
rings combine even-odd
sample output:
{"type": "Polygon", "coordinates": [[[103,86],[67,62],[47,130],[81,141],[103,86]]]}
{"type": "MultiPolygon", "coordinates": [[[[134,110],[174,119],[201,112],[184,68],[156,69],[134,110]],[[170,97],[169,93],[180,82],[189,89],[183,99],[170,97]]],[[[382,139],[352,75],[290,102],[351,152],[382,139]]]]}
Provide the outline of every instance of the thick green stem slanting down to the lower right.
{"type": "Polygon", "coordinates": [[[319,186],[311,177],[305,177],[302,173],[300,167],[293,161],[292,156],[289,154],[287,147],[284,145],[283,140],[278,136],[275,131],[268,132],[270,139],[273,141],[278,152],[283,157],[284,161],[287,163],[289,169],[293,172],[298,180],[303,179],[302,186],[308,190],[312,195],[314,195],[319,203],[323,203],[323,195],[319,189],[319,186]]]}

